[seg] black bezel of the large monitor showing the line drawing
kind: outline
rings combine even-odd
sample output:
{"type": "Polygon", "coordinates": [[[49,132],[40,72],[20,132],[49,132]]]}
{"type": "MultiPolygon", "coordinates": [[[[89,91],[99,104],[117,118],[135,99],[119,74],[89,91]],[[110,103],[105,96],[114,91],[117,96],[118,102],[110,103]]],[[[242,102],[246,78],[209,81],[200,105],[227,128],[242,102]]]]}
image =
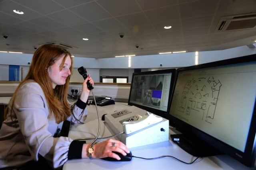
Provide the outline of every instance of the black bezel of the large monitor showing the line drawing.
{"type": "MultiPolygon", "coordinates": [[[[218,66],[248,63],[248,62],[256,62],[256,55],[255,54],[247,55],[247,56],[236,57],[232,59],[225,59],[222,61],[215,61],[211,63],[204,63],[204,64],[195,65],[195,66],[178,68],[176,82],[178,80],[179,73],[182,71],[196,70],[196,69],[202,69],[202,68],[214,68],[218,66]]],[[[176,84],[173,88],[173,93],[175,91],[175,88],[176,88],[176,84]]],[[[171,108],[171,105],[170,105],[170,108],[171,108]]],[[[212,145],[212,147],[215,147],[221,152],[232,156],[242,164],[249,167],[254,166],[255,151],[256,151],[256,146],[255,146],[256,145],[256,141],[255,141],[256,140],[255,138],[256,137],[256,102],[254,102],[254,109],[252,113],[252,119],[250,122],[250,128],[249,128],[248,138],[246,141],[246,147],[244,152],[234,147],[231,147],[230,145],[220,141],[219,139],[216,139],[215,137],[197,129],[196,127],[189,125],[188,123],[170,115],[169,112],[166,118],[169,120],[170,125],[172,127],[175,127],[181,133],[184,133],[185,135],[190,135],[190,136],[193,135],[195,137],[198,137],[199,139],[202,139],[203,141],[206,141],[207,143],[212,145]]]]}

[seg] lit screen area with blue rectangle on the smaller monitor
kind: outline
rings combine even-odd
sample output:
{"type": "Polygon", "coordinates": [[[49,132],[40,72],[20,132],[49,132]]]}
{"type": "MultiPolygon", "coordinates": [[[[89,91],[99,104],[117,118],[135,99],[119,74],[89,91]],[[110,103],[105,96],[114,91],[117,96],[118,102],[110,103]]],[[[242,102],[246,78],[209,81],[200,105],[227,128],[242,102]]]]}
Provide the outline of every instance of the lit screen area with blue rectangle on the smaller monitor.
{"type": "Polygon", "coordinates": [[[172,73],[134,75],[130,102],[167,111],[172,73]]]}

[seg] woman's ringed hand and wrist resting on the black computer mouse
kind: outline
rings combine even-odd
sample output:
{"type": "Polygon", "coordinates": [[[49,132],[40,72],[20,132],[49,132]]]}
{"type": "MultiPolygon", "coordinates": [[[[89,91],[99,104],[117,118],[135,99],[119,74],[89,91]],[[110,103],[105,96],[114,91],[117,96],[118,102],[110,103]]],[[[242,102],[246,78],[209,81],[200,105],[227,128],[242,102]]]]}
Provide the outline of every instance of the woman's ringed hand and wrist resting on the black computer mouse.
{"type": "MultiPolygon", "coordinates": [[[[88,158],[88,148],[90,145],[84,144],[83,151],[82,151],[82,158],[88,158]],[[87,146],[86,146],[87,145],[87,146]],[[85,150],[84,150],[85,149],[85,150]],[[83,156],[83,154],[85,154],[83,156]]],[[[120,157],[113,153],[120,152],[122,155],[126,155],[126,153],[129,153],[130,150],[122,143],[121,141],[114,140],[114,139],[108,139],[101,143],[96,143],[93,145],[94,152],[92,153],[92,158],[105,158],[105,157],[111,157],[115,158],[117,160],[120,160],[120,157]]]]}

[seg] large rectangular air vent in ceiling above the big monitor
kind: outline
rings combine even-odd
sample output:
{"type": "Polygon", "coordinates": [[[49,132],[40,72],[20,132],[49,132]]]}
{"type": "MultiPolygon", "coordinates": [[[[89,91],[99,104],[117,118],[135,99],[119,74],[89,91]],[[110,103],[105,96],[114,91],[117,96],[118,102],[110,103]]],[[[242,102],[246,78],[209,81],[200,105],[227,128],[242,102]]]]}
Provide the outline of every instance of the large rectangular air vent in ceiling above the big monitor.
{"type": "Polygon", "coordinates": [[[256,27],[256,13],[220,18],[217,31],[237,31],[256,27]]]}

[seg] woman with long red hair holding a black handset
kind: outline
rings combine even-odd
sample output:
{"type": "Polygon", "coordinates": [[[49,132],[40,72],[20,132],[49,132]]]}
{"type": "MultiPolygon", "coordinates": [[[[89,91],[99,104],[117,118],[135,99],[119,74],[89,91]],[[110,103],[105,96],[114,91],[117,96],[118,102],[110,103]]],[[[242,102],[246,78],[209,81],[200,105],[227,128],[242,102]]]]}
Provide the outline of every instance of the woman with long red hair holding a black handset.
{"type": "Polygon", "coordinates": [[[90,93],[86,82],[94,84],[88,76],[80,98],[70,107],[67,97],[72,66],[70,52],[58,45],[42,45],[35,51],[28,74],[5,111],[0,129],[0,168],[46,169],[48,163],[47,168],[58,168],[73,158],[120,159],[112,151],[123,155],[129,152],[114,139],[90,146],[59,137],[63,121],[78,123],[86,118],[90,93]]]}

